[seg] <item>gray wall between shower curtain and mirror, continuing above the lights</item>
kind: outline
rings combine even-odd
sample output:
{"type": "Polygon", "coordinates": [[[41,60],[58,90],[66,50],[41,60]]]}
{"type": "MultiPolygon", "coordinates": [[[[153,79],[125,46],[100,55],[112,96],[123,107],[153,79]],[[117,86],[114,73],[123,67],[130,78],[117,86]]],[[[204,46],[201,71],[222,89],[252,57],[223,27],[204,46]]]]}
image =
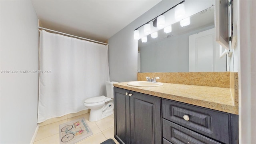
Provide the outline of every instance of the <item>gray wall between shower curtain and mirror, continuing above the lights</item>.
{"type": "Polygon", "coordinates": [[[134,29],[180,1],[162,0],[108,40],[110,80],[118,82],[137,80],[138,41],[133,38],[134,29]]]}

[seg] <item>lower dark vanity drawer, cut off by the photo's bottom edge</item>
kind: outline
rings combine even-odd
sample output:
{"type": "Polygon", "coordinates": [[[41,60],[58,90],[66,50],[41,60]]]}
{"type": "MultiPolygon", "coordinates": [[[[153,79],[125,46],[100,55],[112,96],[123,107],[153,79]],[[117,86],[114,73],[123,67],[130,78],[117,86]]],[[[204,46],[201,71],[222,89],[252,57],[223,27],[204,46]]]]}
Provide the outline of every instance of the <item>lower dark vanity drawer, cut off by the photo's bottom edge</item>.
{"type": "Polygon", "coordinates": [[[166,141],[166,144],[220,144],[165,119],[163,119],[163,137],[170,141],[170,143],[166,141]]]}

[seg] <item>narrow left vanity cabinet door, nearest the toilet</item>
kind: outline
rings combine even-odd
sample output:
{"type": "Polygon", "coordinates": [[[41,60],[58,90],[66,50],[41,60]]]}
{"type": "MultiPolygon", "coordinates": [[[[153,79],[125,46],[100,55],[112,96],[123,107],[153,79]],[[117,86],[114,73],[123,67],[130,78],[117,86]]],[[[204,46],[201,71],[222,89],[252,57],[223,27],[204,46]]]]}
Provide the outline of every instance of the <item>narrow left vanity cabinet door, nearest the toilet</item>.
{"type": "Polygon", "coordinates": [[[130,102],[126,92],[114,87],[114,137],[120,144],[130,144],[130,102]]]}

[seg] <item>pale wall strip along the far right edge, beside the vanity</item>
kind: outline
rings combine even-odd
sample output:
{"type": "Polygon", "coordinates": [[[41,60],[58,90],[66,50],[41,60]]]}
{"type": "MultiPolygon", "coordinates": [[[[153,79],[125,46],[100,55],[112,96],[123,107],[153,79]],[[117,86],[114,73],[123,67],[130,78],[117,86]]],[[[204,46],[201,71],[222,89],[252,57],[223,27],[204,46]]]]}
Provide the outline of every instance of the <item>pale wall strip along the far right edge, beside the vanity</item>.
{"type": "Polygon", "coordinates": [[[256,144],[256,1],[238,1],[239,141],[256,144]]]}

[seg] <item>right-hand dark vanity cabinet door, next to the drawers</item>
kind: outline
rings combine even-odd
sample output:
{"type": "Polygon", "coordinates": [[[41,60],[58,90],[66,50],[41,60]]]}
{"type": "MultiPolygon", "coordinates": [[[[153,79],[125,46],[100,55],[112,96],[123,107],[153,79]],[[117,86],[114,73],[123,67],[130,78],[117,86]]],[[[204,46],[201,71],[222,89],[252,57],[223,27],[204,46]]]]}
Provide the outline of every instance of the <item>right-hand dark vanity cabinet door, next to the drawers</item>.
{"type": "Polygon", "coordinates": [[[132,144],[161,144],[161,98],[130,92],[132,144]]]}

